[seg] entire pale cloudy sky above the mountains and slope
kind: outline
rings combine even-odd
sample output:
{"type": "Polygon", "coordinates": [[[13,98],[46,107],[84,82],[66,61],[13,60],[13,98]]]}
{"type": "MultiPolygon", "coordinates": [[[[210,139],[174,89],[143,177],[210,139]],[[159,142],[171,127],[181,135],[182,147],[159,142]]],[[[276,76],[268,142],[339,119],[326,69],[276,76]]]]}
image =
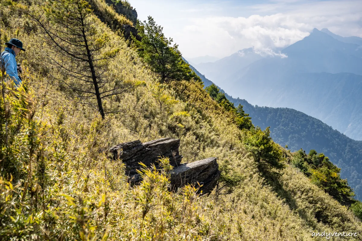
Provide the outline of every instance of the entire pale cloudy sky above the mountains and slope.
{"type": "Polygon", "coordinates": [[[184,57],[225,57],[243,48],[265,53],[328,28],[362,37],[362,0],[129,0],[140,20],[151,15],[184,57]]]}

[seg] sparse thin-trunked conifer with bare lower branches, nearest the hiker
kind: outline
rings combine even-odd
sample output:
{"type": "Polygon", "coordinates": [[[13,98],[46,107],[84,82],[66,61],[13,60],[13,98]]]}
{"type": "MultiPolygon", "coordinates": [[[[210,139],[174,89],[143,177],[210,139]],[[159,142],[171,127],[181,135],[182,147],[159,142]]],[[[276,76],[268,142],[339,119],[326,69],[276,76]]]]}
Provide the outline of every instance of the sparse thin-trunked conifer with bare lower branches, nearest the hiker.
{"type": "Polygon", "coordinates": [[[52,77],[62,89],[70,90],[81,103],[96,108],[104,119],[102,100],[121,94],[130,86],[112,79],[108,73],[110,60],[119,49],[114,47],[107,33],[101,33],[99,23],[85,0],[50,0],[44,12],[10,1],[10,5],[25,13],[42,30],[51,66],[58,72],[52,77]]]}

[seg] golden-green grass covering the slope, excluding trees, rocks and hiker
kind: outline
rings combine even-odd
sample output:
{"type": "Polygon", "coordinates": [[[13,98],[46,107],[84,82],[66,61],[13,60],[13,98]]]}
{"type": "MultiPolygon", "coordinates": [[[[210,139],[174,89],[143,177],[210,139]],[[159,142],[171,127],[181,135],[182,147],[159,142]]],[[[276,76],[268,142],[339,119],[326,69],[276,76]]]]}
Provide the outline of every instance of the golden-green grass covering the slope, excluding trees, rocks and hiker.
{"type": "MultiPolygon", "coordinates": [[[[36,3],[31,7],[42,11],[43,2],[36,3]]],[[[323,231],[357,232],[347,238],[361,239],[361,221],[287,162],[267,184],[245,149],[247,130],[233,124],[232,113],[198,82],[160,85],[136,50],[94,18],[119,48],[106,78],[134,86],[104,100],[105,109],[119,111],[102,120],[97,109],[56,85],[43,35],[13,11],[1,5],[1,40],[16,36],[27,51],[18,56],[25,89],[4,89],[1,99],[1,140],[12,141],[1,142],[1,156],[17,167],[13,178],[0,179],[1,239],[324,240],[311,235],[323,231]],[[130,186],[108,148],[160,137],[180,138],[185,162],[216,156],[223,173],[243,182],[231,194],[197,197],[189,186],[169,193],[167,173],[145,171],[142,184],[130,186]]]]}

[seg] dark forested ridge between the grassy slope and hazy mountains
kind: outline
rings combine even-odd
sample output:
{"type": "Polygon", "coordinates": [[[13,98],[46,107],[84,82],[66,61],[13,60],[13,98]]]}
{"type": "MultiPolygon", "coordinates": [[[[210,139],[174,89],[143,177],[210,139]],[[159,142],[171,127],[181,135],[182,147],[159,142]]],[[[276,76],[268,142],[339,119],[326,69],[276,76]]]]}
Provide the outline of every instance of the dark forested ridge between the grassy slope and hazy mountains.
{"type": "MultiPolygon", "coordinates": [[[[212,84],[197,69],[190,67],[202,79],[205,87],[212,84]]],[[[323,152],[341,168],[341,177],[347,178],[354,189],[355,198],[362,201],[362,141],[355,141],[295,109],[253,106],[244,99],[232,98],[227,93],[225,95],[235,106],[244,106],[245,113],[252,117],[255,126],[262,129],[270,126],[271,137],[281,146],[288,145],[291,151],[302,148],[307,152],[311,149],[323,152]]]]}

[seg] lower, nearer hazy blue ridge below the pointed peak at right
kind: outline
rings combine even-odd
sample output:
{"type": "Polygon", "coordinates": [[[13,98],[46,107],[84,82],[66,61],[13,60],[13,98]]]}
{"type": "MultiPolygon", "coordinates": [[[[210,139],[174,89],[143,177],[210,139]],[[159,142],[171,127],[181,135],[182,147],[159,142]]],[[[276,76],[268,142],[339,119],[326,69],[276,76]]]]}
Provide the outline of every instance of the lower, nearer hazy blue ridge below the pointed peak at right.
{"type": "Polygon", "coordinates": [[[254,99],[254,104],[260,106],[297,109],[353,139],[362,139],[362,76],[352,73],[286,72],[275,76],[278,79],[272,85],[245,83],[237,88],[242,94],[236,95],[254,99]],[[256,86],[261,87],[257,92],[252,92],[256,86]]]}

